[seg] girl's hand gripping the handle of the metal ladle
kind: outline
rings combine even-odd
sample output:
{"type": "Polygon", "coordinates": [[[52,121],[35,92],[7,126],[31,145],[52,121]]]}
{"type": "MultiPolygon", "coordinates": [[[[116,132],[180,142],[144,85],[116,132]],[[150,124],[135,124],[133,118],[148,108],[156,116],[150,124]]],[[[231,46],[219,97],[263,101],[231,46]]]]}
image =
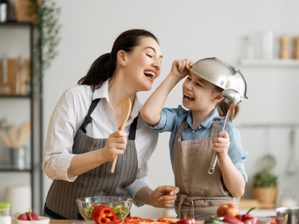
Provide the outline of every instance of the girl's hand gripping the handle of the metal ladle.
{"type": "Polygon", "coordinates": [[[220,131],[218,138],[214,140],[212,150],[218,152],[218,159],[224,159],[228,156],[228,148],[231,145],[227,131],[220,131]],[[223,136],[223,137],[220,137],[223,136]]]}

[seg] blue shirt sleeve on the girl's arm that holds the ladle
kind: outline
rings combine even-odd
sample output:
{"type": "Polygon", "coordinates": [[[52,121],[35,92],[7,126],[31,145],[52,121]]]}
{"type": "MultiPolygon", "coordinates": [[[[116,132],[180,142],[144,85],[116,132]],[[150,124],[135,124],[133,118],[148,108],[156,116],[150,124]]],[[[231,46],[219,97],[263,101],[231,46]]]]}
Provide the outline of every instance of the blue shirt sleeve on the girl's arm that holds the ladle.
{"type": "Polygon", "coordinates": [[[248,152],[243,148],[241,144],[241,135],[235,126],[229,127],[227,130],[230,138],[231,145],[228,148],[228,155],[235,167],[243,175],[245,182],[248,181],[248,176],[245,171],[245,158],[248,156],[248,152]]]}

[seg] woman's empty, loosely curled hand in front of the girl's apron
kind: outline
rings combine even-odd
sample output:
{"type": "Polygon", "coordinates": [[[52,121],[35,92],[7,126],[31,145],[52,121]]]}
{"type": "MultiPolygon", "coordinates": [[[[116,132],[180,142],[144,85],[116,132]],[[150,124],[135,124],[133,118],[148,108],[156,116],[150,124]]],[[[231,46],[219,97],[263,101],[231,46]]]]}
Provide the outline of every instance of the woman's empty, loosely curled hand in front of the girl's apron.
{"type": "Polygon", "coordinates": [[[155,208],[172,208],[176,194],[180,189],[173,186],[160,186],[150,194],[151,204],[155,208]]]}

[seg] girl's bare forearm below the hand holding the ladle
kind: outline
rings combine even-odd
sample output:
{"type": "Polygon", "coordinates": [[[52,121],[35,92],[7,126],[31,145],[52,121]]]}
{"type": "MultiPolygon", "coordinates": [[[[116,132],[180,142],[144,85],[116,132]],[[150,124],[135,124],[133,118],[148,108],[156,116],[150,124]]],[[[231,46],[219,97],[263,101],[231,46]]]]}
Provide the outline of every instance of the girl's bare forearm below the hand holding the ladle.
{"type": "Polygon", "coordinates": [[[238,198],[244,194],[245,180],[240,171],[234,166],[227,155],[219,159],[223,182],[233,197],[238,198]]]}

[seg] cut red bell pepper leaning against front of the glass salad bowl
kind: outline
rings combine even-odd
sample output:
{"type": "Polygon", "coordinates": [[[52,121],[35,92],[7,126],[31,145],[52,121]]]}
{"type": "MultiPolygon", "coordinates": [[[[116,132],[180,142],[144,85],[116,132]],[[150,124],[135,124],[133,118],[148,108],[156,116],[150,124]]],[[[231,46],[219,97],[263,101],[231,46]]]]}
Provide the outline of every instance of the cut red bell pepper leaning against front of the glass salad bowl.
{"type": "Polygon", "coordinates": [[[91,217],[97,224],[110,224],[116,221],[114,211],[104,205],[94,207],[91,217]]]}

